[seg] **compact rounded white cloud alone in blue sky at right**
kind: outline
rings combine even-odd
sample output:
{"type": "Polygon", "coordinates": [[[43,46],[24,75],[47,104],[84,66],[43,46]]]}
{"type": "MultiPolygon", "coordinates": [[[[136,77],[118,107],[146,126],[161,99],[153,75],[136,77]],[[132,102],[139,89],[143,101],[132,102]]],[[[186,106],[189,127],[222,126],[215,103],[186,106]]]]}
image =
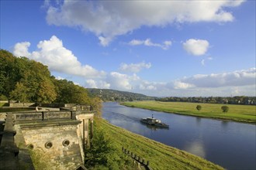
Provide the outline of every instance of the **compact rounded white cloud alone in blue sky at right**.
{"type": "Polygon", "coordinates": [[[189,39],[186,42],[183,42],[183,48],[194,56],[204,55],[208,48],[209,42],[205,39],[189,39]]]}

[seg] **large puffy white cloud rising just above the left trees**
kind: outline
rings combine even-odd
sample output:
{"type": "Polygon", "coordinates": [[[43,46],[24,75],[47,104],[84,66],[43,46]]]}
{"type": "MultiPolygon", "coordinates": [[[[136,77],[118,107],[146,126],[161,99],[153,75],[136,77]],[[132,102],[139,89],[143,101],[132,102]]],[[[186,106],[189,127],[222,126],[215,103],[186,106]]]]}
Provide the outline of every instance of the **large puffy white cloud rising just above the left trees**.
{"type": "Polygon", "coordinates": [[[95,70],[92,66],[81,65],[78,58],[74,56],[71,50],[63,46],[61,39],[58,39],[57,36],[52,36],[49,40],[40,41],[37,44],[38,50],[32,53],[28,51],[29,46],[29,42],[16,43],[13,54],[35,59],[47,65],[51,71],[59,73],[85,77],[100,77],[106,74],[103,71],[95,70]]]}

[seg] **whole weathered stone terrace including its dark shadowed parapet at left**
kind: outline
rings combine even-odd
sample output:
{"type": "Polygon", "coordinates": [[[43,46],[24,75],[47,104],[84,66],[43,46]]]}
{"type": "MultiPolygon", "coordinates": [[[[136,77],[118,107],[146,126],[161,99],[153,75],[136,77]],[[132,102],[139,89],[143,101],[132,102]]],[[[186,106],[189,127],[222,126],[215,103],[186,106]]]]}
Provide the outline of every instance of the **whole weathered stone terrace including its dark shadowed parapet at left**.
{"type": "Polygon", "coordinates": [[[0,137],[4,137],[0,138],[0,169],[2,165],[5,169],[34,169],[33,165],[39,169],[81,167],[85,145],[90,143],[89,136],[92,137],[89,126],[95,111],[86,106],[76,108],[78,110],[13,112],[7,117],[2,114],[6,131],[0,133],[0,137]]]}

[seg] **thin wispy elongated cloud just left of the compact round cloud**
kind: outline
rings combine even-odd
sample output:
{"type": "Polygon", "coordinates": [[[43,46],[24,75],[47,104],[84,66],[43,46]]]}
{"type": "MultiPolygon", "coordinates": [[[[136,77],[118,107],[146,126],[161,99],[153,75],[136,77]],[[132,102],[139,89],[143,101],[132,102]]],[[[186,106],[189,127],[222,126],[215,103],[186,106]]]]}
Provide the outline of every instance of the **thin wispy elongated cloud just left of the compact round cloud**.
{"type": "Polygon", "coordinates": [[[151,42],[150,39],[146,39],[146,40],[133,39],[130,42],[128,42],[128,44],[130,46],[144,45],[144,46],[157,46],[157,47],[160,47],[161,49],[169,49],[169,47],[171,46],[171,41],[164,41],[163,44],[159,44],[159,43],[151,42]]]}

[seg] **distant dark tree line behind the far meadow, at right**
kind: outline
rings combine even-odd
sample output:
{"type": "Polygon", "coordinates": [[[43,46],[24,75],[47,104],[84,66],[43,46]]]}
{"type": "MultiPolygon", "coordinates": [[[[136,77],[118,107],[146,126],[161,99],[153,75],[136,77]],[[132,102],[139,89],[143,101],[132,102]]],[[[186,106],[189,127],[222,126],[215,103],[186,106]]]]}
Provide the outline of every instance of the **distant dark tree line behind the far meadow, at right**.
{"type": "Polygon", "coordinates": [[[206,104],[246,104],[256,105],[256,97],[235,96],[235,97],[162,97],[158,101],[181,101],[206,104]]]}

